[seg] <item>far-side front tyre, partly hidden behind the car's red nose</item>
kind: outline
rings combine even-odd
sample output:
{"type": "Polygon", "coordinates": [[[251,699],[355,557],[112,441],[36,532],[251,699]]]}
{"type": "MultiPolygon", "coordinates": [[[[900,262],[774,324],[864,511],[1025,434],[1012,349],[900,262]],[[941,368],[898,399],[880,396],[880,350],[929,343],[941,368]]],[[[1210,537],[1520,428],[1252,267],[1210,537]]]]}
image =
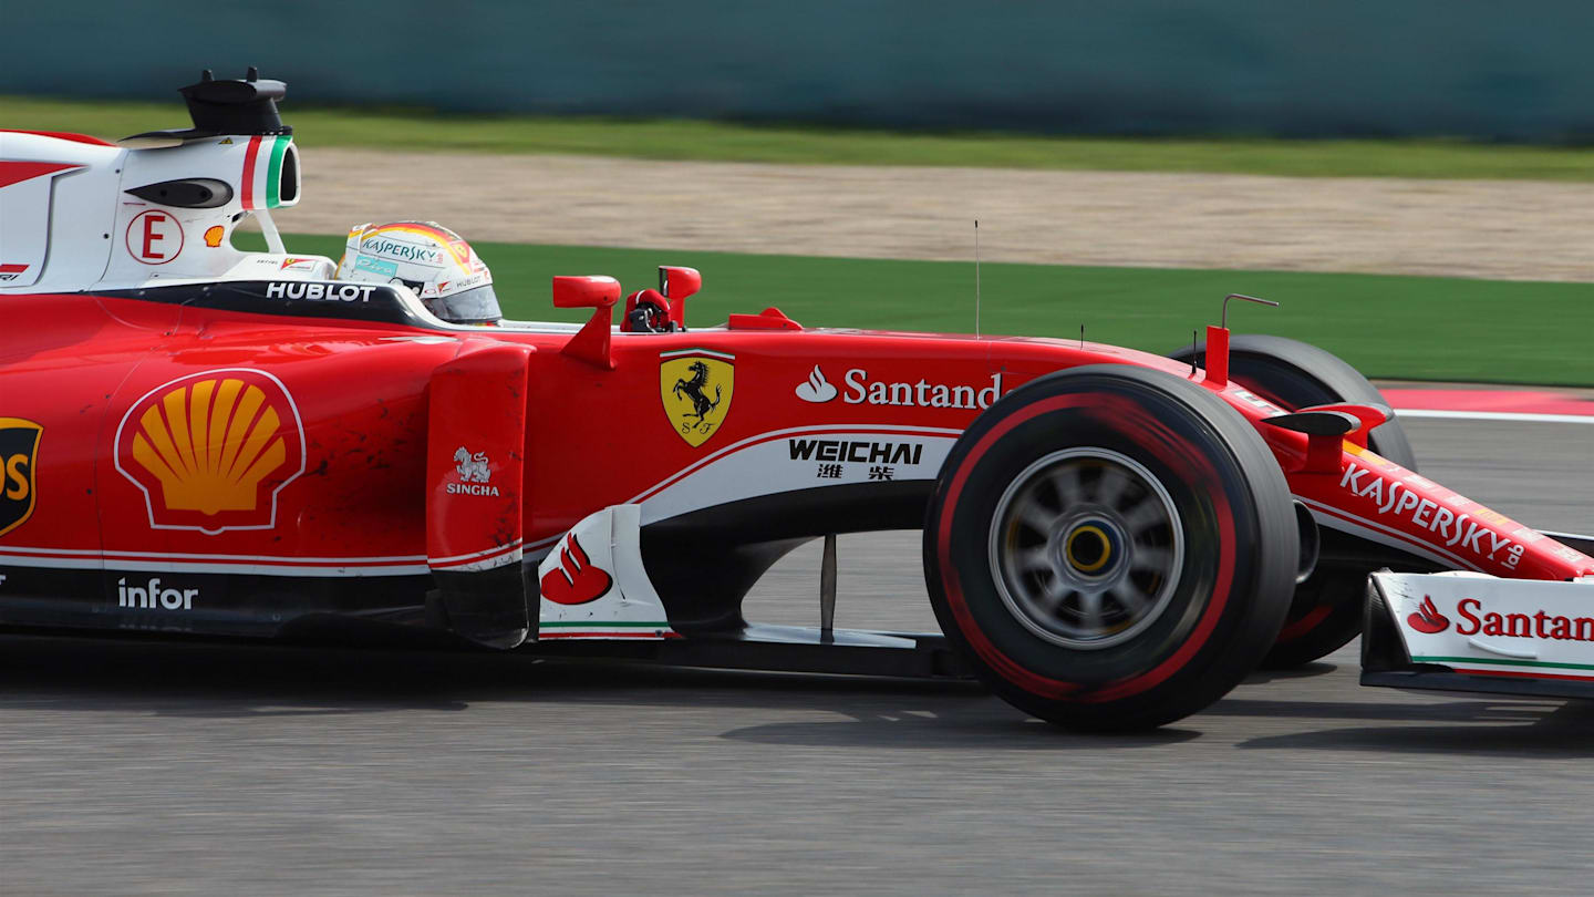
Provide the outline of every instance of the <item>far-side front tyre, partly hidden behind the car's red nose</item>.
{"type": "MultiPolygon", "coordinates": [[[[1170,358],[1207,364],[1207,348],[1188,346],[1170,358]]],[[[1387,405],[1377,386],[1339,356],[1283,337],[1247,334],[1229,342],[1229,378],[1286,410],[1333,402],[1387,405]]],[[[1368,447],[1415,471],[1417,456],[1398,420],[1372,429],[1368,447]]],[[[1376,565],[1321,563],[1296,587],[1278,643],[1262,667],[1290,669],[1331,654],[1361,632],[1361,600],[1376,565]]]]}

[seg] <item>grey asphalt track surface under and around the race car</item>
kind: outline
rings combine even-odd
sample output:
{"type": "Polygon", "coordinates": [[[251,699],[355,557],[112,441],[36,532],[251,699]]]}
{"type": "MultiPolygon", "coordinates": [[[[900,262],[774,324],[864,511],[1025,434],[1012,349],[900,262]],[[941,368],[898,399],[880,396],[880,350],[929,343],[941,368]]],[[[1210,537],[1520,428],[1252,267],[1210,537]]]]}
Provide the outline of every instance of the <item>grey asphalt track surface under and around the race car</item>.
{"type": "MultiPolygon", "coordinates": [[[[1594,528],[1594,426],[1411,421],[1594,528]]],[[[931,626],[910,533],[840,626],[931,626]]],[[[818,551],[749,611],[818,616],[818,551]]],[[[0,892],[1588,894],[1594,705],[1356,685],[1353,648],[1133,737],[976,686],[0,638],[0,892]]]]}

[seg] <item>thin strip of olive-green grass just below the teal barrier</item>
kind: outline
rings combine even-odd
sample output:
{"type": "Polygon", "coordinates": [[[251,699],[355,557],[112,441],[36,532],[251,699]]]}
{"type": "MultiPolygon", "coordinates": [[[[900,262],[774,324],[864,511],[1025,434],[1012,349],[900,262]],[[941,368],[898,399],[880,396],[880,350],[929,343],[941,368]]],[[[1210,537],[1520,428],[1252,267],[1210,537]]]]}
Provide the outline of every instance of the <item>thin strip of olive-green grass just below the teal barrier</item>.
{"type": "MultiPolygon", "coordinates": [[[[813,126],[606,118],[443,117],[426,110],[298,109],[300,144],[650,160],[936,164],[1093,171],[1202,171],[1305,177],[1594,180],[1594,150],[1465,140],[1105,139],[902,134],[813,126]]],[[[105,139],[186,126],[180,102],[0,97],[0,126],[105,139]]]]}

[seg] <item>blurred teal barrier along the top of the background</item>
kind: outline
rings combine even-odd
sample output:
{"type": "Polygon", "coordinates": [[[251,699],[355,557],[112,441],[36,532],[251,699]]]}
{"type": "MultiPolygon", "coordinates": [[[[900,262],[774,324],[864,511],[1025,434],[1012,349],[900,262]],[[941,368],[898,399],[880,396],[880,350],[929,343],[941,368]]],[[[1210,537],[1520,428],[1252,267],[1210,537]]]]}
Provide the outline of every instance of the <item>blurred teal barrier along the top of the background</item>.
{"type": "MultiPolygon", "coordinates": [[[[1588,0],[0,0],[0,93],[1076,134],[1594,139],[1588,0]]],[[[290,109],[290,107],[285,107],[290,109]]]]}

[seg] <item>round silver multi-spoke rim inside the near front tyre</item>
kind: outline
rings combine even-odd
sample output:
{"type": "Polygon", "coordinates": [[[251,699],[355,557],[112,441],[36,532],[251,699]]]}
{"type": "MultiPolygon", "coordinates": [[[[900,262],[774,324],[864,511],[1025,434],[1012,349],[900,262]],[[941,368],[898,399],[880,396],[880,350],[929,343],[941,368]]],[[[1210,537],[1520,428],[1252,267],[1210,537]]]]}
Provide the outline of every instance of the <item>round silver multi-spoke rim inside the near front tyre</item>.
{"type": "Polygon", "coordinates": [[[1143,464],[1109,448],[1065,448],[1007,484],[990,565],[1025,629],[1065,648],[1111,648],[1167,610],[1184,533],[1168,490],[1143,464]]]}

